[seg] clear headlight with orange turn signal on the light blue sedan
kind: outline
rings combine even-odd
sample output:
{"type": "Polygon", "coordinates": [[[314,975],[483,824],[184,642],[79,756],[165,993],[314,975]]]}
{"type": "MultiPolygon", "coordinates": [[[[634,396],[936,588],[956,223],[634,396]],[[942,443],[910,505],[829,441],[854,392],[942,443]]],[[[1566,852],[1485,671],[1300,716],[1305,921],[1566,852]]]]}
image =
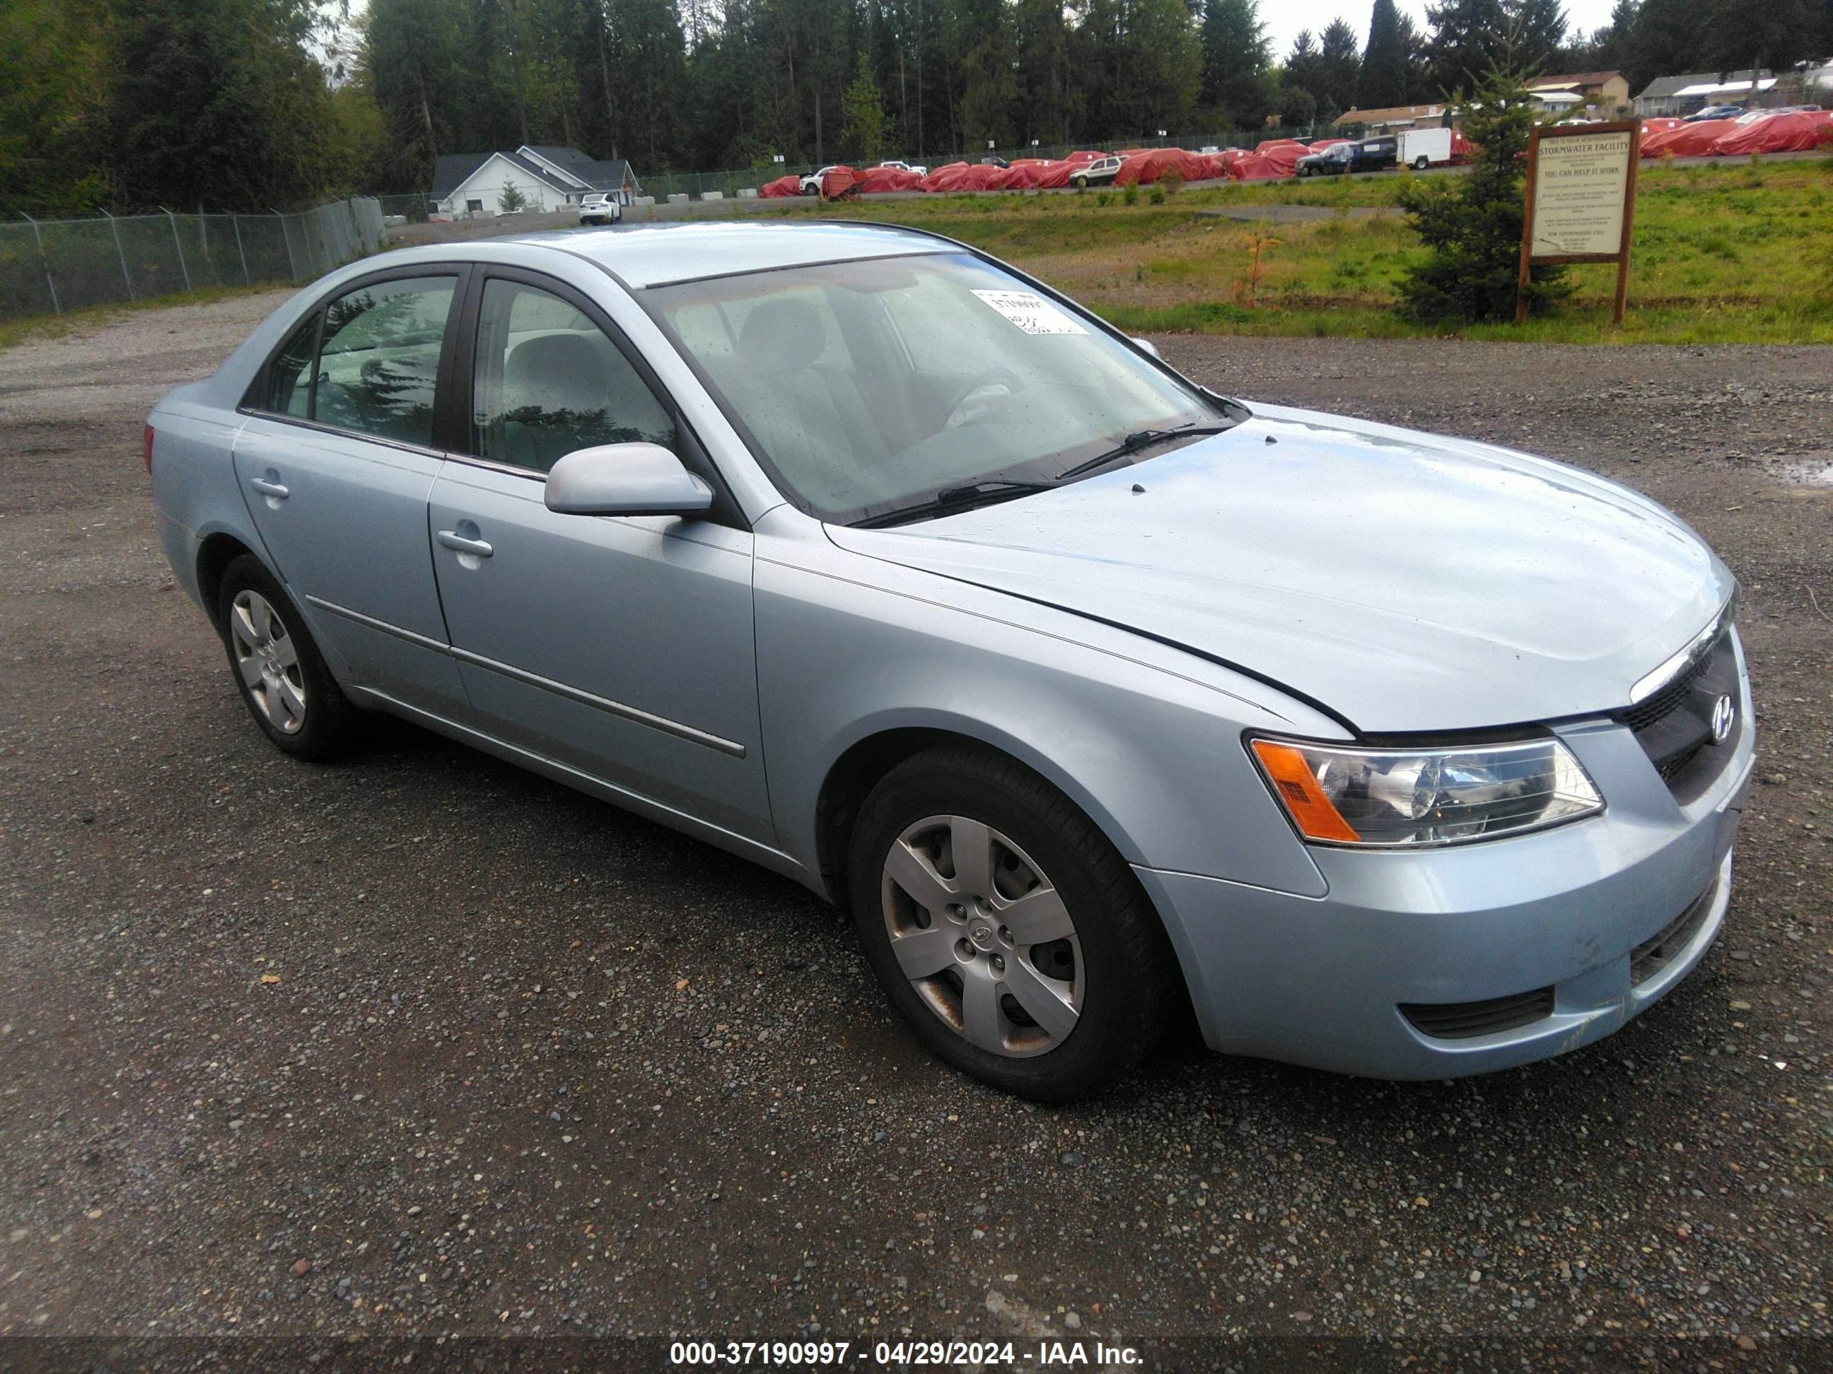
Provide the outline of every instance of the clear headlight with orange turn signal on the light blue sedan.
{"type": "Polygon", "coordinates": [[[1457,845],[1604,810],[1586,769],[1558,740],[1461,749],[1250,744],[1298,834],[1325,845],[1457,845]]]}

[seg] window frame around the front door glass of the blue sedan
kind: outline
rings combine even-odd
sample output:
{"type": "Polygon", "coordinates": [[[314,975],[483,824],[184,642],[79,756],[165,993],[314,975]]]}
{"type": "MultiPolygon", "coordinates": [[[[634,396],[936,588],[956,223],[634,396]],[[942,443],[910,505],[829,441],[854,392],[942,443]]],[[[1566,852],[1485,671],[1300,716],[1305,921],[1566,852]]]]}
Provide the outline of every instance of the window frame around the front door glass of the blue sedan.
{"type": "Polygon", "coordinates": [[[693,425],[687,423],[687,416],[675,399],[675,394],[662,385],[662,377],[656,376],[656,370],[649,365],[649,359],[643,357],[642,350],[631,343],[629,335],[618,328],[616,321],[612,321],[610,315],[605,313],[605,310],[585,291],[559,280],[557,277],[548,277],[546,273],[532,271],[528,267],[511,267],[495,262],[473,264],[471,280],[464,289],[464,322],[455,341],[451,357],[455,376],[451,379],[451,387],[445,387],[442,372],[442,387],[436,392],[436,396],[449,398],[449,405],[440,405],[438,401],[434,403],[433,436],[434,442],[444,443],[447,460],[484,467],[493,473],[508,473],[530,482],[544,484],[548,480],[546,473],[537,473],[532,467],[517,467],[513,463],[497,462],[473,453],[471,420],[475,414],[477,390],[478,321],[484,310],[484,288],[493,280],[513,282],[515,286],[546,291],[577,310],[596,330],[610,339],[610,344],[618,350],[623,361],[631,365],[631,370],[636,372],[638,381],[649,388],[649,394],[675,423],[676,442],[684,449],[684,453],[676,456],[689,473],[713,487],[713,506],[706,513],[706,518],[715,524],[731,526],[733,529],[748,531],[752,528],[750,520],[746,520],[744,513],[739,509],[739,502],[733,498],[724,474],[708,453],[706,443],[700,442],[693,425]],[[442,412],[445,420],[444,429],[440,425],[442,412]]]}

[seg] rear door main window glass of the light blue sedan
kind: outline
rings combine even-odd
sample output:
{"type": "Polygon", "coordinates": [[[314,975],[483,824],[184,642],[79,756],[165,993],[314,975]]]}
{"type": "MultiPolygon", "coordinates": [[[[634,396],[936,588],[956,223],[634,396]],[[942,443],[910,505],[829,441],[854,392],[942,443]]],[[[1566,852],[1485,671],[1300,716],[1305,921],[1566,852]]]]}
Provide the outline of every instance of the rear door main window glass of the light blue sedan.
{"type": "Polygon", "coordinates": [[[374,282],[324,315],[312,418],[401,443],[433,445],[433,383],[440,370],[453,277],[374,282]]]}

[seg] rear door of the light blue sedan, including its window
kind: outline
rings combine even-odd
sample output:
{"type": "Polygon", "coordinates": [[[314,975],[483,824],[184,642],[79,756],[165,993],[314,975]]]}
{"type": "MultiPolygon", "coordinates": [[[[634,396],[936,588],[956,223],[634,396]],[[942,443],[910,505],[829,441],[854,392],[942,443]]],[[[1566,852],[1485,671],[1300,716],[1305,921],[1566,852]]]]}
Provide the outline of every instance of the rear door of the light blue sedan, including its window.
{"type": "Polygon", "coordinates": [[[427,546],[434,403],[466,269],[359,280],[304,321],[247,398],[235,471],[273,566],[348,678],[466,714],[427,546]]]}

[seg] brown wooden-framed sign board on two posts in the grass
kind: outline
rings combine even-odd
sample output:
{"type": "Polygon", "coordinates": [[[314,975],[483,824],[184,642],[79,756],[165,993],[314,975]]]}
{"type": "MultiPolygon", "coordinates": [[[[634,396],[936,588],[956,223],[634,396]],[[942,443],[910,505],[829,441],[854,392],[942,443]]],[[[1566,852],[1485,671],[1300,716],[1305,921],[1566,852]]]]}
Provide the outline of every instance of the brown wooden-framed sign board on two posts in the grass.
{"type": "Polygon", "coordinates": [[[1630,231],[1635,224],[1635,169],[1642,123],[1554,125],[1527,145],[1527,214],[1514,322],[1527,319],[1529,269],[1536,262],[1615,262],[1622,324],[1630,295],[1630,231]]]}

